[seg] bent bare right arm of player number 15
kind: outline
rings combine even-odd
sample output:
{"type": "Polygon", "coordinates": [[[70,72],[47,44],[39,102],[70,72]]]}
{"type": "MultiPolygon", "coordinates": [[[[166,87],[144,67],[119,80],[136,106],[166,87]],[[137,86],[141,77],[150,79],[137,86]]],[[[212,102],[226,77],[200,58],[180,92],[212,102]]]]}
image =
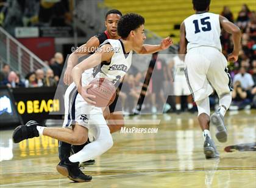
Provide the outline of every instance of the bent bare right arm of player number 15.
{"type": "Polygon", "coordinates": [[[237,61],[241,44],[241,31],[239,27],[230,22],[224,16],[219,15],[219,22],[221,23],[223,29],[226,30],[226,32],[232,34],[232,40],[234,45],[233,52],[228,56],[227,59],[229,61],[237,61]]]}

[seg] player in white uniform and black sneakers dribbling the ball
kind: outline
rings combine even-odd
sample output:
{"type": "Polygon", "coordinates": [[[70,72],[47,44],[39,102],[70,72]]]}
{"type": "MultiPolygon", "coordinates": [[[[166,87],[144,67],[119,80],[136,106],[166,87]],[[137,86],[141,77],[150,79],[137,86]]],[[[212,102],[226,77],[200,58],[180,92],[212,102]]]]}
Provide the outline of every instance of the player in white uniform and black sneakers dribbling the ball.
{"type": "Polygon", "coordinates": [[[70,180],[77,182],[90,181],[91,176],[85,175],[79,169],[79,163],[96,158],[113,146],[112,135],[104,119],[102,109],[95,107],[94,96],[88,95],[88,83],[98,77],[107,78],[113,83],[121,79],[129,70],[132,62],[132,50],[137,53],[153,53],[167,49],[170,38],[163,39],[160,45],[143,45],[144,18],[137,14],[127,14],[118,22],[119,40],[108,39],[98,52],[80,62],[73,68],[73,81],[65,93],[65,119],[70,128],[44,127],[35,121],[19,126],[13,132],[13,142],[20,143],[24,139],[35,136],[50,136],[65,143],[80,145],[88,139],[88,131],[94,141],[82,150],[60,161],[57,170],[70,180]],[[93,67],[99,65],[99,72],[93,72],[93,67]],[[68,107],[66,107],[68,106],[68,107]]]}

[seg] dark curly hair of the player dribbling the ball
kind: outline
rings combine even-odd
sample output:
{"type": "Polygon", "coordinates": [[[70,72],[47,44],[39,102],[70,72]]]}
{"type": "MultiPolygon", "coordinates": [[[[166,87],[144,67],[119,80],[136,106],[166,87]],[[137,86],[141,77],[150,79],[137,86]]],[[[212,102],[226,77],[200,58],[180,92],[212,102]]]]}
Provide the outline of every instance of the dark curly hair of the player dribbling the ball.
{"type": "Polygon", "coordinates": [[[132,30],[136,30],[145,23],[143,16],[129,13],[123,15],[118,21],[118,35],[121,38],[127,38],[132,30]]]}

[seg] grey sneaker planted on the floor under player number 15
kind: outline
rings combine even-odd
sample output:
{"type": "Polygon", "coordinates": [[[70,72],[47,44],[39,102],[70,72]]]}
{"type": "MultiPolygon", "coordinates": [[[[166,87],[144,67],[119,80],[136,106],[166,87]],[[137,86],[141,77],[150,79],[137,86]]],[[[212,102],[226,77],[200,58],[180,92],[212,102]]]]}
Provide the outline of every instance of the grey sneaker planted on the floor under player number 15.
{"type": "Polygon", "coordinates": [[[204,154],[207,159],[219,158],[219,152],[216,150],[215,143],[208,135],[206,135],[204,141],[204,154]]]}

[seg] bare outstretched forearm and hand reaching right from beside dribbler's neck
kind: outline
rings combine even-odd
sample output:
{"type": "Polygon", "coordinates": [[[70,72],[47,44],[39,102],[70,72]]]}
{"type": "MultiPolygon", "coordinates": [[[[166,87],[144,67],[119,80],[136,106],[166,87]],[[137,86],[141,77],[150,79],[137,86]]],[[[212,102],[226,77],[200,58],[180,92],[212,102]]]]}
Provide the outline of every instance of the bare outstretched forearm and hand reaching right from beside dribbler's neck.
{"type": "Polygon", "coordinates": [[[167,38],[163,39],[158,45],[143,44],[141,49],[135,50],[135,52],[139,54],[150,54],[159,52],[161,50],[168,49],[169,46],[172,45],[172,42],[172,39],[168,36],[167,38]]]}

